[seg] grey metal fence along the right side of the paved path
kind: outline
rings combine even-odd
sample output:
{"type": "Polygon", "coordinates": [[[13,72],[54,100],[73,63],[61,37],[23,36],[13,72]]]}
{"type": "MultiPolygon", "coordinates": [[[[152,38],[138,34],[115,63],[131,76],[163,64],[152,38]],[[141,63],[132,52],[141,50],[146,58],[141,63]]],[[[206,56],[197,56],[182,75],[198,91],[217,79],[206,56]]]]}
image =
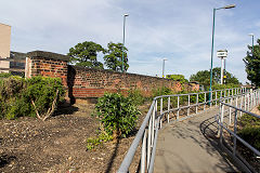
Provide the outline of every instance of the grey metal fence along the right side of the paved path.
{"type": "MultiPolygon", "coordinates": [[[[259,104],[260,90],[258,89],[252,92],[240,94],[236,97],[232,96],[223,99],[220,103],[220,114],[216,116],[216,120],[220,125],[220,145],[237,163],[239,163],[245,172],[260,172],[260,168],[256,168],[260,164],[260,151],[237,135],[237,119],[244,114],[247,114],[260,120],[260,116],[249,112],[259,104]],[[227,101],[230,101],[229,104],[227,101]],[[237,143],[240,143],[240,146],[246,147],[247,150],[251,151],[251,156],[253,156],[257,162],[259,162],[258,165],[251,165],[250,162],[240,155],[237,143]]],[[[243,150],[245,148],[243,148],[243,150]]]]}

